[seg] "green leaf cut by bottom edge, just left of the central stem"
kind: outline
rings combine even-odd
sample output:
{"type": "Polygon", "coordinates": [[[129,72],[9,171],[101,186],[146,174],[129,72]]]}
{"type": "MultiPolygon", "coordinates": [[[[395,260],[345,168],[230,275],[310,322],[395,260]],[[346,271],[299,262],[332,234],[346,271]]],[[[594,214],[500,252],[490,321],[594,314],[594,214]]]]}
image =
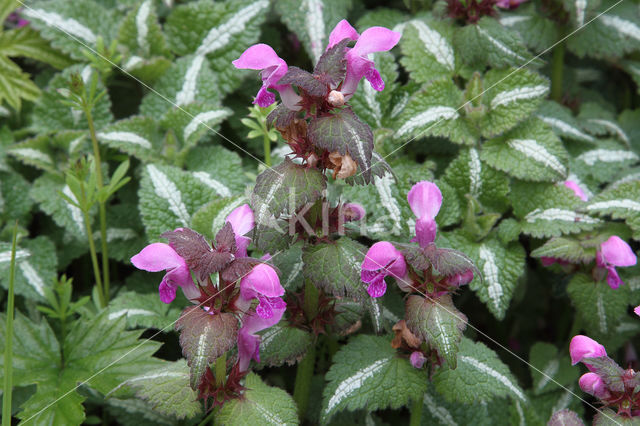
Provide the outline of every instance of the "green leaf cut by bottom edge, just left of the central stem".
{"type": "Polygon", "coordinates": [[[216,425],[298,424],[296,404],[287,392],[267,386],[254,373],[247,376],[245,387],[243,398],[227,402],[216,414],[216,425]]]}

